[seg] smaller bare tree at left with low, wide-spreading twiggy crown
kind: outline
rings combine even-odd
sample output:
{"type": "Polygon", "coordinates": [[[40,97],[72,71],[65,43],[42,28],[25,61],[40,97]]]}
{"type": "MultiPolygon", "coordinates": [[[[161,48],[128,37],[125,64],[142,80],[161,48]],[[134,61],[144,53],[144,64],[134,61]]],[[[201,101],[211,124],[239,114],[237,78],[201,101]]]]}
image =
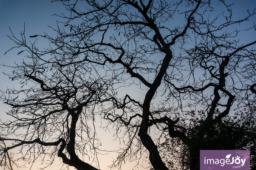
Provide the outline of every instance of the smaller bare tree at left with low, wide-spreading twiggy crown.
{"type": "MultiPolygon", "coordinates": [[[[22,37],[24,41],[10,38],[26,46],[26,38],[23,34],[22,37]]],[[[8,154],[12,148],[32,144],[31,147],[29,145],[31,150],[37,144],[38,155],[48,154],[44,146],[59,145],[58,148],[52,148],[50,153],[61,157],[63,163],[77,169],[96,169],[79,159],[75,148],[82,155],[88,154],[84,150],[85,144],[92,145],[93,150],[97,149],[99,142],[88,122],[94,120],[95,105],[109,98],[111,83],[93,76],[92,68],[85,63],[70,64],[72,61],[66,59],[54,62],[54,58],[43,61],[34,44],[28,48],[31,49],[27,56],[29,62],[23,61],[13,66],[14,71],[10,75],[13,81],[19,80],[22,87],[19,90],[7,89],[4,93],[6,95],[2,96],[5,103],[12,106],[7,114],[13,119],[1,124],[2,128],[9,129],[7,134],[1,134],[1,142],[4,144],[1,154],[5,159],[2,159],[1,165],[7,166],[8,160],[8,167],[12,169],[12,158],[8,154]],[[65,62],[68,65],[65,66],[65,62]],[[27,131],[16,135],[20,129],[27,131]],[[9,136],[17,138],[10,139],[9,136]],[[80,138],[79,143],[76,142],[76,136],[80,138]],[[6,147],[6,141],[14,143],[6,147]],[[69,158],[63,153],[64,149],[69,158]]]]}

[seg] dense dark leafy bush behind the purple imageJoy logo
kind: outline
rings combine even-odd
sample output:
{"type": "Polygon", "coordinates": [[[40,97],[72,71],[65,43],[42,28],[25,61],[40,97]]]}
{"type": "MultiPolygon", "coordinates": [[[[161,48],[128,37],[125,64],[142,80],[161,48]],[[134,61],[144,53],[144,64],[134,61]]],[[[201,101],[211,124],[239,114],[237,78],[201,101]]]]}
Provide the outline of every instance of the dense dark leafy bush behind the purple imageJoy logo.
{"type": "MultiPolygon", "coordinates": [[[[216,110],[214,114],[218,113],[216,110]]],[[[255,169],[255,113],[255,98],[250,104],[240,106],[235,116],[217,122],[205,124],[205,115],[199,113],[198,119],[184,121],[187,122],[183,125],[187,128],[185,142],[165,135],[165,142],[160,145],[163,157],[172,169],[200,169],[200,150],[250,150],[250,166],[255,169]]],[[[194,117],[195,111],[188,115],[194,117]]]]}

